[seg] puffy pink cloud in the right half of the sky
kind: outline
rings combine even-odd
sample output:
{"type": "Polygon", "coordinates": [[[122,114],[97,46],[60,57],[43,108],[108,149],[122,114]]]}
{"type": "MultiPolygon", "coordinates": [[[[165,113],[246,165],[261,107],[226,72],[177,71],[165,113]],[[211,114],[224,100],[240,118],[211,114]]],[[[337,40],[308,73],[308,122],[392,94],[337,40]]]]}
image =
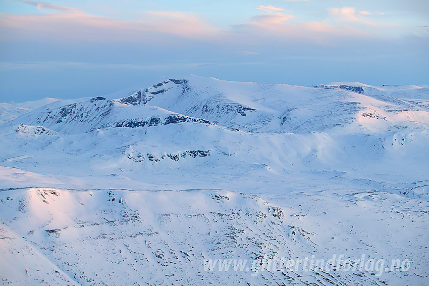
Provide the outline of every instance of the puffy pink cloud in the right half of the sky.
{"type": "MultiPolygon", "coordinates": [[[[363,39],[393,34],[393,24],[371,19],[371,15],[379,13],[356,11],[352,7],[330,8],[326,19],[320,21],[299,21],[299,17],[278,12],[282,8],[273,6],[259,6],[258,9],[271,13],[253,16],[246,23],[233,26],[232,32],[238,34],[238,38],[247,34],[259,40],[331,46],[334,42],[347,42],[350,35],[363,39]]],[[[259,44],[256,40],[253,42],[259,44]]]]}

